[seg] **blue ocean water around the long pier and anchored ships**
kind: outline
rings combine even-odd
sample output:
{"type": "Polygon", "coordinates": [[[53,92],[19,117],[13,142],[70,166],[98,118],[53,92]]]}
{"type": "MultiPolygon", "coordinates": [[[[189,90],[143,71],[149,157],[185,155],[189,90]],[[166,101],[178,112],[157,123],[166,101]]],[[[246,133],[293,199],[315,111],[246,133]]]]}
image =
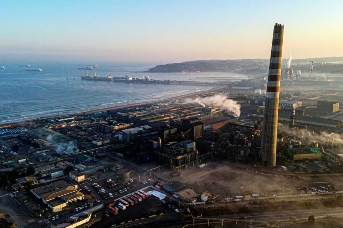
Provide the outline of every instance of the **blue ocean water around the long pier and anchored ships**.
{"type": "MultiPolygon", "coordinates": [[[[31,68],[42,68],[43,72],[25,71],[26,67],[13,63],[4,66],[5,69],[0,70],[0,124],[132,103],[154,102],[213,88],[199,85],[156,86],[81,80],[80,75],[84,75],[86,70],[77,67],[83,65],[31,64],[31,68]]],[[[113,77],[149,75],[152,79],[174,80],[188,80],[198,76],[242,76],[233,73],[135,73],[147,69],[134,65],[99,64],[96,71],[98,76],[108,73],[113,77]]],[[[93,76],[94,70],[89,70],[90,76],[93,76]]]]}

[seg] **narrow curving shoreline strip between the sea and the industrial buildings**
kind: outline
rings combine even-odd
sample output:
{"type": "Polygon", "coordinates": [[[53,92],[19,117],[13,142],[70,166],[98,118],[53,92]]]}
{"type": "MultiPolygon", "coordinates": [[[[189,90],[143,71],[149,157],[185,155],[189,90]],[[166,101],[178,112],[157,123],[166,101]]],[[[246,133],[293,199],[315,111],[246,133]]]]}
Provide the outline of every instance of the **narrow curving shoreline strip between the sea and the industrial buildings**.
{"type": "Polygon", "coordinates": [[[195,95],[199,95],[199,94],[203,94],[203,93],[210,93],[210,92],[215,92],[221,89],[227,88],[227,86],[217,86],[214,87],[212,89],[209,90],[204,90],[204,91],[200,91],[200,92],[193,92],[193,93],[188,93],[188,94],[184,94],[184,95],[179,95],[176,97],[170,97],[167,99],[162,99],[162,100],[156,100],[153,102],[138,102],[138,103],[132,103],[132,104],[126,104],[126,105],[119,105],[119,106],[112,106],[112,107],[106,107],[106,108],[101,108],[101,109],[93,109],[93,110],[89,110],[87,112],[75,112],[75,113],[69,113],[69,114],[63,114],[63,115],[50,115],[50,116],[45,116],[45,117],[38,117],[35,118],[33,120],[26,120],[26,121],[18,121],[18,122],[8,122],[5,124],[0,124],[0,128],[1,127],[5,127],[5,126],[21,126],[21,125],[28,125],[29,123],[36,123],[38,121],[42,121],[45,119],[49,119],[49,118],[57,118],[57,117],[64,117],[64,116],[77,116],[79,114],[83,114],[83,115],[90,115],[96,112],[104,112],[104,111],[113,111],[113,110],[120,110],[120,109],[126,109],[129,107],[134,107],[137,105],[147,105],[147,104],[151,104],[151,103],[163,103],[163,102],[168,102],[171,100],[175,100],[175,99],[180,99],[180,98],[187,98],[187,97],[191,97],[191,96],[195,96],[195,95]]]}

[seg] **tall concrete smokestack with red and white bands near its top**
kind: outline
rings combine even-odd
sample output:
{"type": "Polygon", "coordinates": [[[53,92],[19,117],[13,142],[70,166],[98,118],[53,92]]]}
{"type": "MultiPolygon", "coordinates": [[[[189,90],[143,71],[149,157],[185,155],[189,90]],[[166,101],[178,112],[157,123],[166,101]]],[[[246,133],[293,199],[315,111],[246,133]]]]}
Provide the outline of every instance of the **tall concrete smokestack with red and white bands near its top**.
{"type": "Polygon", "coordinates": [[[269,167],[273,167],[276,164],[277,116],[279,112],[283,29],[283,25],[275,23],[272,51],[270,54],[267,95],[265,97],[261,156],[263,163],[269,167]]]}

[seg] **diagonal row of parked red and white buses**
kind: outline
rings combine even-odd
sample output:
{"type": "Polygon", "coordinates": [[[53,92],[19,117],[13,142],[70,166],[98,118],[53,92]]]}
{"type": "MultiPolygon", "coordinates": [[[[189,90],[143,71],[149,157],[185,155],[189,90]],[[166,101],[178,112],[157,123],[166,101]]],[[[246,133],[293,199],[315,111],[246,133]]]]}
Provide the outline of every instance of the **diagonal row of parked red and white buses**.
{"type": "Polygon", "coordinates": [[[143,190],[139,190],[120,198],[117,202],[115,200],[108,202],[106,208],[109,212],[117,215],[119,213],[119,209],[126,210],[128,206],[133,206],[134,204],[137,204],[148,197],[148,193],[144,192],[143,190]]]}

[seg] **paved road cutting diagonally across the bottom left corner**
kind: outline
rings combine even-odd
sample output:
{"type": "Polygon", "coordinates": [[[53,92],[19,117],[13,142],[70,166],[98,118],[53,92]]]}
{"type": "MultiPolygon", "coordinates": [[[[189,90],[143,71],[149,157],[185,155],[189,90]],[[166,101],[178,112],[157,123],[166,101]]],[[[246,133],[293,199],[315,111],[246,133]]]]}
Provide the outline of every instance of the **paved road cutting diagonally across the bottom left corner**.
{"type": "Polygon", "coordinates": [[[16,227],[42,227],[42,221],[33,219],[22,206],[20,206],[12,194],[9,194],[4,188],[0,188],[0,208],[10,216],[16,227]]]}

